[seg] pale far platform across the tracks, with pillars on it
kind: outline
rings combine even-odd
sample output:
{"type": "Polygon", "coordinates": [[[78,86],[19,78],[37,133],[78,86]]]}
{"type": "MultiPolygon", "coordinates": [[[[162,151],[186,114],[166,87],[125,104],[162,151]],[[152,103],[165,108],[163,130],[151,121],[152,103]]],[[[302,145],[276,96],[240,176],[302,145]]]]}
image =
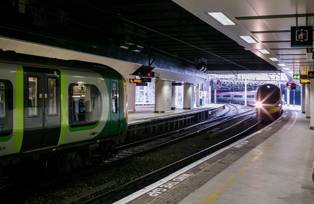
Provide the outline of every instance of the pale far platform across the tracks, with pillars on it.
{"type": "Polygon", "coordinates": [[[154,105],[136,106],[135,111],[132,110],[128,112],[128,124],[129,126],[131,126],[136,123],[145,123],[157,119],[165,119],[178,115],[189,114],[195,111],[200,111],[201,109],[215,109],[223,105],[225,104],[205,104],[203,106],[194,107],[192,109],[183,109],[182,106],[177,106],[175,110],[171,110],[165,113],[155,113],[154,105]]]}

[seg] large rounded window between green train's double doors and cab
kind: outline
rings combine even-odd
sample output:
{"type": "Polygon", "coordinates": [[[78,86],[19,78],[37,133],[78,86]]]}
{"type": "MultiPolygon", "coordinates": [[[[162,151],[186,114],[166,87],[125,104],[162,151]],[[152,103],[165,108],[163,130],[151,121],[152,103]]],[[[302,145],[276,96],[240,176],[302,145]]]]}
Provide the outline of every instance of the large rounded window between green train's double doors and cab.
{"type": "Polygon", "coordinates": [[[96,124],[102,113],[102,97],[99,89],[92,84],[71,84],[70,127],[96,124]]]}

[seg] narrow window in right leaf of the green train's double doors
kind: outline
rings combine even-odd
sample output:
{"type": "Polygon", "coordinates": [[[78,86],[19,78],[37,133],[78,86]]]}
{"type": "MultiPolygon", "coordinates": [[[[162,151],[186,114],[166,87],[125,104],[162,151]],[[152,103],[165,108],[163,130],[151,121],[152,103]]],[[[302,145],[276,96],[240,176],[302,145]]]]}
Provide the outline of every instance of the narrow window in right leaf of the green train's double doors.
{"type": "Polygon", "coordinates": [[[48,78],[48,116],[58,115],[56,78],[48,78]]]}

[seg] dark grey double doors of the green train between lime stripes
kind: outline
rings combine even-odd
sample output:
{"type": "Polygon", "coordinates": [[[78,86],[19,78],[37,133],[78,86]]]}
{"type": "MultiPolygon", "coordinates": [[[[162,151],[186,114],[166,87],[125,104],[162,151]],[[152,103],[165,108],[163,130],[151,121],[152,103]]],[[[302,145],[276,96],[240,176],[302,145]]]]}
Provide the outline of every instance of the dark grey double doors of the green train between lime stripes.
{"type": "Polygon", "coordinates": [[[21,151],[57,145],[61,129],[60,73],[24,68],[24,135],[21,151]]]}

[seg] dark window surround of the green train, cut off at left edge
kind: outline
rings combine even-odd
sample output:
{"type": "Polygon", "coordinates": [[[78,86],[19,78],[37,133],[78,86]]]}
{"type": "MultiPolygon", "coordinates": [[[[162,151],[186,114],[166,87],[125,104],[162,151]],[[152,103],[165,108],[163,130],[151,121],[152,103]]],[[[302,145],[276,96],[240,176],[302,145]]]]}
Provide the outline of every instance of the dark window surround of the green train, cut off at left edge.
{"type": "Polygon", "coordinates": [[[0,138],[6,137],[13,132],[13,85],[7,79],[0,79],[0,83],[4,84],[5,99],[3,102],[4,116],[0,117],[0,138]]]}

